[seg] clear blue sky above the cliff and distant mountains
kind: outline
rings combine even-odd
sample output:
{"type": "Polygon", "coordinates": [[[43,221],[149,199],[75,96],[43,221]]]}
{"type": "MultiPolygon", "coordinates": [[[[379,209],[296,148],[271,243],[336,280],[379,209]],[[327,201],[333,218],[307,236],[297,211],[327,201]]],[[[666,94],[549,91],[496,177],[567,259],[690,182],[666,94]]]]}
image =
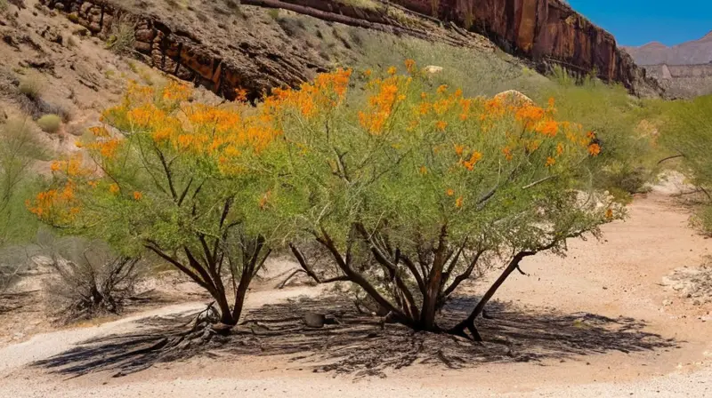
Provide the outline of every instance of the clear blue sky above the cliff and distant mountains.
{"type": "Polygon", "coordinates": [[[620,45],[675,45],[712,30],[712,0],[569,0],[620,45]]]}

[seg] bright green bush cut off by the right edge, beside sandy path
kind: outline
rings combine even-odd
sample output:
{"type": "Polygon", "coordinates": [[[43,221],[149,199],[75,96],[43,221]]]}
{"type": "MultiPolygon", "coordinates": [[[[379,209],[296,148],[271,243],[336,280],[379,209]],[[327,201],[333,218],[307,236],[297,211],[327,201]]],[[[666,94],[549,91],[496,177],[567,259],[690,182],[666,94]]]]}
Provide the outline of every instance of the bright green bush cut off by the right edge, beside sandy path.
{"type": "Polygon", "coordinates": [[[703,193],[696,224],[712,234],[712,96],[666,104],[661,118],[660,143],[671,156],[679,156],[682,171],[703,193]]]}

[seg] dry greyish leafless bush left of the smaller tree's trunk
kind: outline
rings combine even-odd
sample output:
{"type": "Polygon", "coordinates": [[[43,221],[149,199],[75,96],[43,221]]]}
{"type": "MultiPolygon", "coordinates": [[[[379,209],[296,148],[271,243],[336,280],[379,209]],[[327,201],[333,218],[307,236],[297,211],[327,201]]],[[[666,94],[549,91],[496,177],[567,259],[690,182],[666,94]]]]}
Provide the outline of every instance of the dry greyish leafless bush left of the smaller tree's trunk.
{"type": "Polygon", "coordinates": [[[116,255],[104,243],[80,238],[45,238],[41,245],[52,259],[52,273],[44,283],[47,310],[61,322],[120,314],[126,300],[134,296],[139,259],[116,255]]]}

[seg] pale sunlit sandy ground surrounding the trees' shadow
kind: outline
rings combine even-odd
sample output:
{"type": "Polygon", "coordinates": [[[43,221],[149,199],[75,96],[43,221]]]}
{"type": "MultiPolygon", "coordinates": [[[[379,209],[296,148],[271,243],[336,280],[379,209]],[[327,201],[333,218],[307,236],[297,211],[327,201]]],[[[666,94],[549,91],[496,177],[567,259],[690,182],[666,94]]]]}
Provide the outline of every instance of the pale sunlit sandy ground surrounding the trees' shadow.
{"type": "MultiPolygon", "coordinates": [[[[0,396],[712,396],[712,308],[695,306],[660,285],[675,268],[695,267],[703,256],[712,254],[712,240],[688,227],[689,213],[668,193],[659,189],[636,198],[626,221],[604,227],[600,242],[572,242],[565,259],[550,255],[528,259],[522,265],[528,275],[513,275],[497,299],[565,314],[632,317],[645,322],[645,331],[674,339],[673,347],[540,362],[493,362],[459,370],[416,363],[389,370],[387,378],[360,379],[315,373],[309,364],[277,355],[229,361],[195,357],[124,378],[98,373],[67,379],[27,367],[87,338],[135,330],[140,327],[135,321],[142,317],[203,305],[194,302],[91,328],[36,335],[6,346],[0,349],[0,396]]],[[[484,284],[467,290],[481,292],[484,284]]],[[[247,305],[319,292],[310,287],[257,289],[247,305]]]]}

